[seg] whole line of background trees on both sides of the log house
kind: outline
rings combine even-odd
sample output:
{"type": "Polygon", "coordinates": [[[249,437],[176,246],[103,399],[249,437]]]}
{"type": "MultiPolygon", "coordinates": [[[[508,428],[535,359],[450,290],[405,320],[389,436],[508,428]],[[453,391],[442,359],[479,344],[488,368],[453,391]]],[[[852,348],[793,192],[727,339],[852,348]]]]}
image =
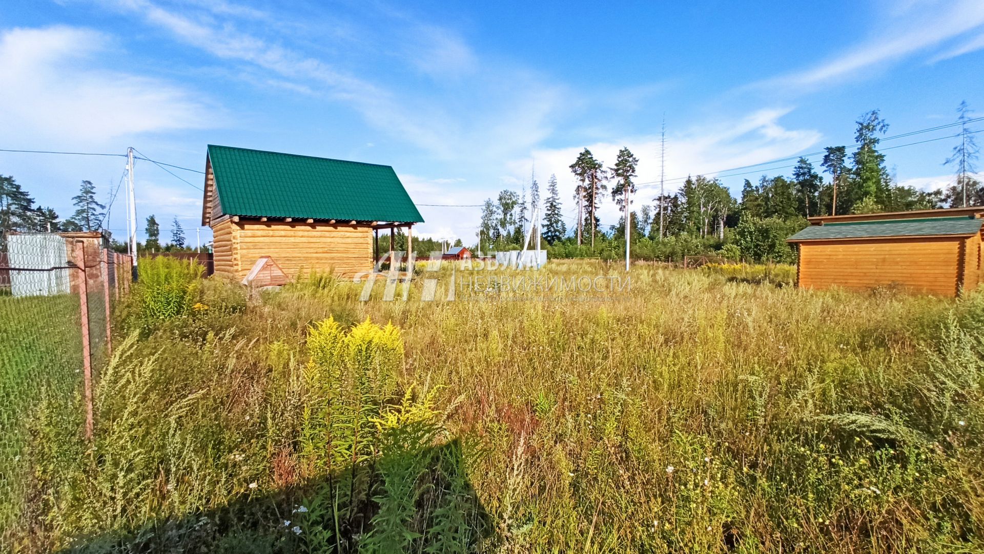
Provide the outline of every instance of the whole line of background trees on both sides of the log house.
{"type": "MultiPolygon", "coordinates": [[[[763,175],[758,183],[746,179],[737,196],[719,179],[697,175],[688,177],[675,193],[646,197],[637,190],[639,158],[629,148],[622,148],[608,167],[584,148],[570,166],[576,180],[570,203],[561,197],[556,175],[547,181],[543,197],[540,184],[531,176],[528,188],[523,185],[520,193],[504,190],[484,201],[476,242],[418,236],[412,245],[424,257],[451,246],[467,246],[481,253],[522,249],[537,211],[540,246],[550,257],[616,259],[624,255],[625,213],[629,211],[629,237],[636,259],[680,261],[685,255],[713,255],[733,261],[789,263],[796,254],[785,240],[805,227],[808,217],[984,204],[984,185],[976,173],[977,132],[968,127],[977,119],[970,117],[966,102],[956,112],[960,132],[954,136],[952,155],[944,161],[952,168],[954,180],[941,190],[927,192],[898,184],[880,150],[889,124],[876,109],[855,122],[855,144],[826,147],[817,166],[801,156],[788,177],[763,175]],[[597,215],[606,196],[622,214],[615,224],[603,224],[597,215]]],[[[92,182],[83,181],[79,194],[72,198],[75,212],[63,219],[51,207],[35,205],[31,194],[13,177],[0,175],[0,236],[7,231],[100,230],[111,239],[106,206],[112,206],[118,192],[118,187],[110,191],[103,204],[92,182]]],[[[154,214],[146,218],[144,231],[147,239],[138,245],[142,252],[188,251],[197,246],[186,239],[177,216],[167,230],[169,241],[161,242],[154,214]]],[[[387,251],[390,238],[384,234],[379,241],[379,251],[387,251]]],[[[111,244],[126,251],[125,243],[111,240],[111,244]]],[[[401,230],[395,246],[406,249],[401,230]]]]}

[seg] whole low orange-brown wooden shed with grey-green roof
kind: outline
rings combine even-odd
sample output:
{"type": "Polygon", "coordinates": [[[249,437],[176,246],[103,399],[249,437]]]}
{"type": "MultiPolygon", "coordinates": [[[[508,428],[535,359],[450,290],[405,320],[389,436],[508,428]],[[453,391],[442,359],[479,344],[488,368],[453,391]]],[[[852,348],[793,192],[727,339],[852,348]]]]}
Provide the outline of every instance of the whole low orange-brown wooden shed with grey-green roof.
{"type": "Polygon", "coordinates": [[[788,239],[799,247],[797,286],[897,286],[954,297],[984,282],[984,206],[811,217],[788,239]]]}

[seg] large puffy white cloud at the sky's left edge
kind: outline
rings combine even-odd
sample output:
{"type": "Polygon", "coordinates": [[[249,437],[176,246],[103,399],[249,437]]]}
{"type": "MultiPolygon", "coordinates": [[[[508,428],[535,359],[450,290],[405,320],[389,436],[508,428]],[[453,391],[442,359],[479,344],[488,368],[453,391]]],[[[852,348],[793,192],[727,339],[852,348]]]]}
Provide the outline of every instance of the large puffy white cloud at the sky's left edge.
{"type": "MultiPolygon", "coordinates": [[[[193,94],[161,80],[100,69],[112,37],[86,28],[0,34],[0,120],[8,137],[101,142],[214,122],[193,94]]],[[[27,145],[27,144],[26,144],[27,145]]]]}

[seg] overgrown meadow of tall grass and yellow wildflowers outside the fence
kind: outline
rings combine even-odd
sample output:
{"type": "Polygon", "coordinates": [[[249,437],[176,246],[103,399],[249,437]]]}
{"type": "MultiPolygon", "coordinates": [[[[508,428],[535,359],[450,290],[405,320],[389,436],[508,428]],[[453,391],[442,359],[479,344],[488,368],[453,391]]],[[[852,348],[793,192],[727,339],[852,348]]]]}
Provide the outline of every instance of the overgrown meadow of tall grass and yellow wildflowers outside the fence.
{"type": "Polygon", "coordinates": [[[157,270],[118,313],[94,442],[31,412],[10,549],[984,548],[978,295],[638,265],[604,302],[420,302],[422,279],[359,302],[324,276],[247,297],[157,270]]]}

